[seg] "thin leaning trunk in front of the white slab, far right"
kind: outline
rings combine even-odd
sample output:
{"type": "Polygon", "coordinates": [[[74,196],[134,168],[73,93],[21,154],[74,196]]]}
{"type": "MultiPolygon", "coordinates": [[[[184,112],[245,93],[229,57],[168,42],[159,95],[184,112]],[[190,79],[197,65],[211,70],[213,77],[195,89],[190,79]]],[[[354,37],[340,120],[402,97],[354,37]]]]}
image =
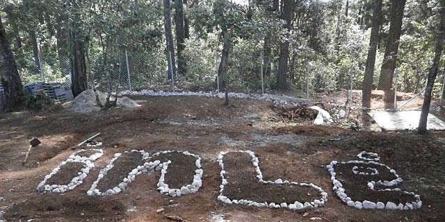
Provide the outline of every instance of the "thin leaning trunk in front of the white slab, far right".
{"type": "Polygon", "coordinates": [[[440,57],[442,56],[442,50],[444,49],[444,37],[445,37],[445,3],[441,1],[442,8],[440,9],[440,22],[437,27],[435,56],[432,60],[432,67],[428,71],[428,80],[426,83],[425,95],[423,98],[422,112],[420,115],[419,128],[417,128],[420,134],[428,133],[426,128],[428,122],[428,113],[430,112],[431,92],[436,80],[437,71],[439,69],[440,57]]]}

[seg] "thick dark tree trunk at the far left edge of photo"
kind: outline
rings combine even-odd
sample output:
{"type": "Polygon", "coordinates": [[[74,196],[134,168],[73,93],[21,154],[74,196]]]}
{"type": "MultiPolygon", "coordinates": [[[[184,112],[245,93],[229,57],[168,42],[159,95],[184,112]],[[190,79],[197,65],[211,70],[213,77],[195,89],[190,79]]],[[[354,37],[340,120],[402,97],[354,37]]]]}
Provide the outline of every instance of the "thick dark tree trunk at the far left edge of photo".
{"type": "Polygon", "coordinates": [[[3,95],[0,94],[0,110],[11,111],[22,103],[22,80],[13,52],[6,37],[0,17],[0,80],[3,86],[3,95]]]}

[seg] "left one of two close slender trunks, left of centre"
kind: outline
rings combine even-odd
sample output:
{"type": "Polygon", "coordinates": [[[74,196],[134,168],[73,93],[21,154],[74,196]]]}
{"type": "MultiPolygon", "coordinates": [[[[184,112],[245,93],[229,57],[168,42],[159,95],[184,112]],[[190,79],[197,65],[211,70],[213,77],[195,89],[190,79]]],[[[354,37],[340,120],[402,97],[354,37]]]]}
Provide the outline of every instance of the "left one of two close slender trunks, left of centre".
{"type": "Polygon", "coordinates": [[[164,29],[167,43],[168,80],[176,76],[175,50],[173,49],[172,19],[170,17],[170,0],[164,1],[164,29]]]}

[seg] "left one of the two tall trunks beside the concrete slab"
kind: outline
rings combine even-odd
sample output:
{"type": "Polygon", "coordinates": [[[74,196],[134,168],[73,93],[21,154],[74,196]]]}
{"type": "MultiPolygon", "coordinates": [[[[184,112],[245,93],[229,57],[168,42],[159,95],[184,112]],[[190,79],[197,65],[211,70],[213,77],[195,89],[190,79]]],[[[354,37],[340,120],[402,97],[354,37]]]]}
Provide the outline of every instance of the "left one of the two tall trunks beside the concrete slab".
{"type": "Polygon", "coordinates": [[[366,58],[366,68],[362,87],[362,106],[371,108],[371,92],[373,88],[373,76],[375,65],[375,53],[379,40],[380,15],[382,13],[382,0],[374,1],[373,26],[371,28],[371,39],[369,40],[368,58],[366,58]]]}

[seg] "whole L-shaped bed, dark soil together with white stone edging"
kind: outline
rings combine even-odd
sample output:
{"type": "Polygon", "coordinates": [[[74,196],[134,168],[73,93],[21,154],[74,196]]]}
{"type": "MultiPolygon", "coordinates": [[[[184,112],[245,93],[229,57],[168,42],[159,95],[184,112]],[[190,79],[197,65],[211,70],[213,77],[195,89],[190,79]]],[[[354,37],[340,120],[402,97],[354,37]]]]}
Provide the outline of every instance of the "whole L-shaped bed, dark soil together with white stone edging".
{"type": "MultiPolygon", "coordinates": [[[[227,157],[226,157],[227,158],[227,157]]],[[[241,158],[242,159],[242,158],[241,158]]],[[[233,163],[236,163],[237,160],[235,160],[233,163]]],[[[240,162],[240,161],[238,161],[240,162]]],[[[231,162],[232,163],[232,162],[231,162]]],[[[218,164],[220,165],[221,171],[220,176],[222,178],[222,182],[220,185],[220,194],[218,196],[218,200],[222,201],[223,203],[227,204],[238,204],[238,205],[249,205],[254,207],[268,207],[268,208],[284,208],[284,209],[290,209],[290,210],[309,210],[314,207],[321,207],[325,204],[327,201],[327,193],[321,189],[321,187],[318,187],[312,183],[298,183],[298,182],[289,182],[289,180],[282,180],[277,179],[275,181],[266,181],[263,180],[263,175],[261,173],[261,169],[259,168],[259,159],[252,151],[228,151],[228,152],[220,152],[218,155],[218,164]],[[236,166],[236,169],[239,169],[240,171],[237,171],[236,173],[231,175],[231,172],[226,171],[228,168],[230,168],[229,165],[225,165],[225,162],[227,163],[227,160],[224,160],[226,155],[231,155],[233,153],[236,154],[242,154],[242,155],[248,155],[249,159],[243,159],[242,162],[248,162],[248,164],[251,164],[250,168],[254,169],[254,173],[256,173],[256,176],[251,173],[247,173],[248,175],[245,175],[245,172],[241,172],[243,169],[239,169],[238,166],[236,166]],[[245,160],[245,161],[244,161],[245,160]],[[236,174],[236,176],[235,176],[236,174]],[[237,181],[232,181],[231,178],[236,178],[237,181]],[[248,180],[245,180],[245,179],[248,180]],[[230,186],[235,185],[238,183],[241,186],[246,185],[259,185],[259,187],[248,187],[248,191],[243,194],[236,194],[235,192],[226,191],[227,189],[230,189],[230,186]],[[229,188],[227,188],[229,187],[229,188]],[[272,189],[268,189],[268,191],[275,193],[273,196],[261,196],[260,198],[254,197],[261,195],[261,192],[255,192],[255,191],[261,191],[259,189],[267,189],[266,187],[271,187],[272,189]],[[284,191],[283,189],[286,189],[284,191]],[[281,190],[281,191],[280,191],[281,190]],[[312,196],[308,196],[308,191],[312,191],[315,195],[321,196],[321,198],[312,198],[312,196]],[[230,193],[230,194],[226,194],[230,193]],[[255,195],[252,195],[252,192],[255,195]],[[284,194],[284,195],[283,195],[284,194]],[[289,195],[292,194],[292,195],[289,195]],[[227,195],[227,196],[226,196],[227,195]],[[248,195],[249,197],[247,197],[248,195]],[[245,196],[246,198],[242,199],[236,199],[236,196],[245,196]],[[310,200],[293,200],[294,197],[297,198],[303,198],[303,199],[310,199],[310,200]],[[284,202],[280,201],[280,199],[286,199],[284,202]],[[268,202],[269,200],[269,202],[268,202]],[[279,200],[272,202],[273,200],[279,200]]],[[[236,187],[234,190],[240,190],[245,187],[236,187]]],[[[268,192],[266,192],[268,193],[268,192]]]]}

